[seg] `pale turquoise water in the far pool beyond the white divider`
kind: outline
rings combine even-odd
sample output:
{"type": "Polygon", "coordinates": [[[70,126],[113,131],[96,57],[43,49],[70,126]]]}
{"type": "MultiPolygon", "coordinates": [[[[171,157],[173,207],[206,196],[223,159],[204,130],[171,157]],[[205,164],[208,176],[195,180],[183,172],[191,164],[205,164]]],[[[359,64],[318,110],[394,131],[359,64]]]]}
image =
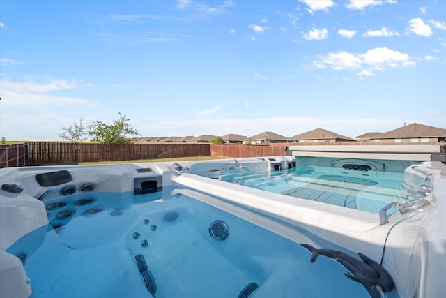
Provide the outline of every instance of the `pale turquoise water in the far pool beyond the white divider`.
{"type": "Polygon", "coordinates": [[[403,172],[302,165],[286,170],[223,174],[222,181],[378,214],[389,202],[406,202],[403,172]]]}

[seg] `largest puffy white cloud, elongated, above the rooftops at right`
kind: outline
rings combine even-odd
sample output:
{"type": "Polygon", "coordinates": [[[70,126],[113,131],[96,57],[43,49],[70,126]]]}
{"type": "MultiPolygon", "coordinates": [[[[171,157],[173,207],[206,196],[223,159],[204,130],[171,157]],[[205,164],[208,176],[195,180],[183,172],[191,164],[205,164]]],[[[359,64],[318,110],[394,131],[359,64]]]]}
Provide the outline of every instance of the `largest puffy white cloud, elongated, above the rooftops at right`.
{"type": "Polygon", "coordinates": [[[376,47],[363,54],[351,52],[328,53],[318,56],[313,61],[316,68],[330,67],[334,70],[356,70],[360,78],[376,75],[376,71],[388,68],[408,67],[415,65],[408,54],[387,47],[376,47]]]}

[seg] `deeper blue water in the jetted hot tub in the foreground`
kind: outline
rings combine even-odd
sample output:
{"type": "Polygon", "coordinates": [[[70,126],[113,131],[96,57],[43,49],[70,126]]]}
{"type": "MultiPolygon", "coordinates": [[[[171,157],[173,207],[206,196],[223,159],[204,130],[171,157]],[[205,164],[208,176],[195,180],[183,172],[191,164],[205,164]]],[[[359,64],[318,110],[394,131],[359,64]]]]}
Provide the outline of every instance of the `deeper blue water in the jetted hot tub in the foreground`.
{"type": "MultiPolygon", "coordinates": [[[[299,183],[307,182],[293,181],[293,187],[299,183]]],[[[253,283],[249,298],[369,297],[338,262],[321,256],[311,263],[299,244],[184,193],[164,187],[146,195],[93,192],[47,202],[54,229],[25,263],[31,297],[226,298],[253,283]],[[153,295],[137,256],[151,272],[153,295]]]]}

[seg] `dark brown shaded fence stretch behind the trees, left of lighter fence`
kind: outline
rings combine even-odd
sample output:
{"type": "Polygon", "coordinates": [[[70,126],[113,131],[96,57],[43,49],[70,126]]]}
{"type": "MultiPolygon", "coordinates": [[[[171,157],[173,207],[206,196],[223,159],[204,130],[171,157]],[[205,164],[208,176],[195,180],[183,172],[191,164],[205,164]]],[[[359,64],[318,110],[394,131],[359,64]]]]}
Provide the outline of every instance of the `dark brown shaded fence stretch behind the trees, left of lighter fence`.
{"type": "Polygon", "coordinates": [[[30,165],[210,156],[209,144],[29,143],[30,165]]]}

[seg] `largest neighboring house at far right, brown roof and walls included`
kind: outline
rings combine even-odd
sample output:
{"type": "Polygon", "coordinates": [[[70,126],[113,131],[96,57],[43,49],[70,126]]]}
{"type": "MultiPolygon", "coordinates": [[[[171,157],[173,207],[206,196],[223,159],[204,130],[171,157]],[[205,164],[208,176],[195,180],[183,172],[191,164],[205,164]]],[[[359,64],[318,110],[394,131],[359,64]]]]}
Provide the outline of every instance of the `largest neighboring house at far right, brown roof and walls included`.
{"type": "Polygon", "coordinates": [[[371,140],[374,142],[446,142],[446,129],[413,123],[372,137],[371,140]]]}

